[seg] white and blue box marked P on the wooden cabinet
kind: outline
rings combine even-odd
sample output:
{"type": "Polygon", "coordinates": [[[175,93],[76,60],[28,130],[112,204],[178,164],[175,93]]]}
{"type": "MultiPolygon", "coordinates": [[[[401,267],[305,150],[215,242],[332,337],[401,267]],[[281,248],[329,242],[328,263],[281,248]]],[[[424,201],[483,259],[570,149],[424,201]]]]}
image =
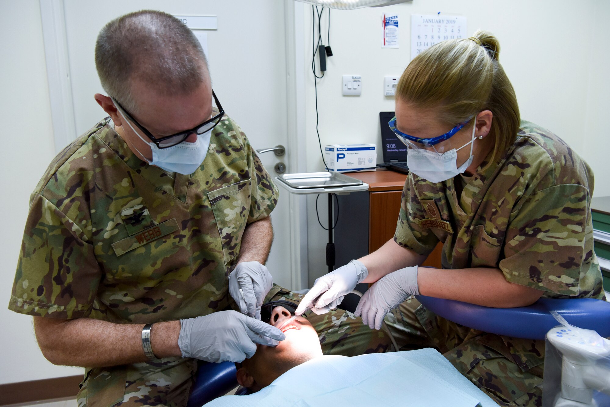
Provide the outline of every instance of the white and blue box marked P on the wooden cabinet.
{"type": "Polygon", "coordinates": [[[324,159],[328,171],[375,171],[377,147],[375,144],[329,144],[324,159]]]}

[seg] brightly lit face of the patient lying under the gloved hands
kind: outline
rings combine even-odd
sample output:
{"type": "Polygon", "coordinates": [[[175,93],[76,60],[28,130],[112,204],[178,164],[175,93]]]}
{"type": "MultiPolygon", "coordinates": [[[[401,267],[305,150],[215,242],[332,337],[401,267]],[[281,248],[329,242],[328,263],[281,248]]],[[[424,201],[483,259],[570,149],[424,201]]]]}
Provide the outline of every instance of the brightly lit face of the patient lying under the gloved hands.
{"type": "MultiPolygon", "coordinates": [[[[269,324],[278,327],[291,316],[284,307],[276,306],[269,324]]],[[[282,332],[286,339],[279,345],[256,345],[254,356],[237,364],[239,384],[259,391],[293,367],[322,356],[318,333],[304,317],[297,317],[282,332]]]]}

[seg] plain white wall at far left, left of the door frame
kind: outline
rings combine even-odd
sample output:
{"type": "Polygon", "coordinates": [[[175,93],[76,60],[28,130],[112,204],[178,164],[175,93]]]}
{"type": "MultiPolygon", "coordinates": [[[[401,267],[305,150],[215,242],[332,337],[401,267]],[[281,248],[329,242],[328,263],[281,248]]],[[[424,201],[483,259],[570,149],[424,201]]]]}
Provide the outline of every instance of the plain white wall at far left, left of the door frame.
{"type": "Polygon", "coordinates": [[[0,1],[0,111],[4,219],[0,244],[0,384],[77,375],[38,349],[32,317],[9,311],[29,195],[54,154],[51,105],[38,0],[0,1]]]}

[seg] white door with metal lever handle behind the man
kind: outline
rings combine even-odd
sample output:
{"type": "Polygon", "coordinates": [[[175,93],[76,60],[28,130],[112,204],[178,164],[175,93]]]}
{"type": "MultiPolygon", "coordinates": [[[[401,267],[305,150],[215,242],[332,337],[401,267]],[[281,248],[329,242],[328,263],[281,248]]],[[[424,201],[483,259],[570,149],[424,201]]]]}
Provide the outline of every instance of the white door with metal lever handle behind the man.
{"type": "MultiPolygon", "coordinates": [[[[212,85],[226,113],[254,149],[289,146],[284,2],[278,0],[65,0],[66,43],[71,73],[76,132],[81,134],[105,116],[93,99],[104,93],[95,70],[99,30],[111,19],[142,9],[173,15],[215,15],[218,29],[207,30],[212,85]]],[[[260,154],[272,177],[286,155],[260,154]]],[[[290,171],[290,168],[287,168],[290,171]]],[[[289,194],[281,190],[272,214],[274,242],[267,267],[273,281],[292,288],[289,194]]]]}

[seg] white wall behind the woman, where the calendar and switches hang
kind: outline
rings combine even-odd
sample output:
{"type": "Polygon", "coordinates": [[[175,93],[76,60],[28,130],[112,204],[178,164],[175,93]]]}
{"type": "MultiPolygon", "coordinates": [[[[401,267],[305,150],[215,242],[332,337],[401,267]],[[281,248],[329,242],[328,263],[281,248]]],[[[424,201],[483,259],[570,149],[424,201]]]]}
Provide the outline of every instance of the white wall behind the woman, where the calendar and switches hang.
{"type": "MultiPolygon", "coordinates": [[[[318,81],[322,146],[331,143],[381,144],[379,111],[394,110],[393,97],[382,93],[383,77],[400,75],[411,55],[412,13],[458,14],[467,17],[468,36],[486,29],[500,40],[500,62],[511,79],[523,119],[547,127],[563,138],[594,169],[595,196],[610,195],[605,177],[610,102],[605,38],[606,1],[586,0],[415,0],[382,9],[331,11],[331,46],[325,77],[318,81]],[[400,18],[400,48],[382,49],[382,13],[400,18]],[[605,34],[605,36],[604,36],[605,34]],[[362,75],[362,96],[342,96],[343,74],[362,75]]],[[[323,169],[315,133],[314,82],[309,65],[312,14],[305,13],[307,171],[323,169]]],[[[323,41],[326,44],[323,18],[323,41]]],[[[381,153],[378,161],[382,161],[381,153]]],[[[326,272],[326,232],[315,218],[315,197],[308,201],[309,280],[326,272]]],[[[326,225],[326,199],[320,214],[326,225]]],[[[340,264],[337,264],[340,266],[340,264]]]]}

